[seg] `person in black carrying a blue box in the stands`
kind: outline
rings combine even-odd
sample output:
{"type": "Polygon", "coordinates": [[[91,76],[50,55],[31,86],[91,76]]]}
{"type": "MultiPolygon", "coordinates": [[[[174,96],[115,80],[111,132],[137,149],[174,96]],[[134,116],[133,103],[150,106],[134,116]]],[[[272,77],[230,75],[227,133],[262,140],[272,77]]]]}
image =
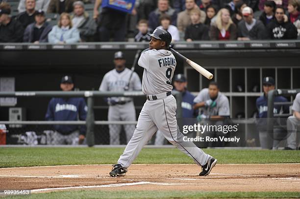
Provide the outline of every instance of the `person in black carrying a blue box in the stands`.
{"type": "Polygon", "coordinates": [[[96,0],[94,6],[94,19],[98,20],[98,33],[100,42],[109,42],[111,34],[113,34],[114,42],[125,41],[126,16],[125,12],[121,12],[111,8],[102,8],[99,15],[99,7],[102,0],[96,0]]]}

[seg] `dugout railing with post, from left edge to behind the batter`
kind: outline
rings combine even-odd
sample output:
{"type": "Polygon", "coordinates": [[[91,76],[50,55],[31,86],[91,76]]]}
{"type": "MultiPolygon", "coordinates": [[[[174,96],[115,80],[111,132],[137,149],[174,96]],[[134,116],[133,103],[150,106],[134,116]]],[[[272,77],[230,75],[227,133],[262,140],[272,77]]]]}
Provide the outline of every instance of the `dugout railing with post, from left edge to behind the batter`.
{"type": "MultiPolygon", "coordinates": [[[[172,94],[176,98],[176,116],[181,117],[182,96],[178,91],[173,90],[172,94]]],[[[137,121],[95,121],[94,100],[97,97],[143,97],[142,91],[124,92],[102,92],[102,91],[20,91],[20,92],[0,92],[0,97],[85,97],[87,98],[86,121],[0,121],[4,125],[86,125],[86,143],[89,147],[95,145],[95,125],[109,124],[137,124],[137,121]]],[[[146,97],[146,96],[145,96],[146,97]]]]}

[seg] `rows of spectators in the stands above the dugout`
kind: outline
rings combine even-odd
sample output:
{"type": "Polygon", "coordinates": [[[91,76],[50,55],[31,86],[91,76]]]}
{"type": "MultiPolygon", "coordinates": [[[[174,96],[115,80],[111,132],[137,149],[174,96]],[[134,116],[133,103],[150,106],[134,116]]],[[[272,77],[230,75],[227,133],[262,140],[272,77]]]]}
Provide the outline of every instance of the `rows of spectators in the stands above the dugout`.
{"type": "Polygon", "coordinates": [[[136,0],[130,14],[102,1],[20,0],[13,15],[0,0],[0,43],[147,42],[157,27],[173,41],[300,39],[300,0],[136,0]]]}

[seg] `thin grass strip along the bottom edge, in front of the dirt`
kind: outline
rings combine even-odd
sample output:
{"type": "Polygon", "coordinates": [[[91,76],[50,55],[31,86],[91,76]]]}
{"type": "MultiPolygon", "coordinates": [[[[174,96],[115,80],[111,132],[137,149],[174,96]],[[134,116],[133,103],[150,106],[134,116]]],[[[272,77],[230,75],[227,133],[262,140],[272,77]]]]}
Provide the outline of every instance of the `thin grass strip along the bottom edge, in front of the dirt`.
{"type": "MultiPolygon", "coordinates": [[[[24,196],[10,196],[20,199],[24,196]]],[[[95,191],[40,193],[25,196],[26,199],[292,199],[300,198],[298,192],[156,192],[156,191],[95,191]]]]}

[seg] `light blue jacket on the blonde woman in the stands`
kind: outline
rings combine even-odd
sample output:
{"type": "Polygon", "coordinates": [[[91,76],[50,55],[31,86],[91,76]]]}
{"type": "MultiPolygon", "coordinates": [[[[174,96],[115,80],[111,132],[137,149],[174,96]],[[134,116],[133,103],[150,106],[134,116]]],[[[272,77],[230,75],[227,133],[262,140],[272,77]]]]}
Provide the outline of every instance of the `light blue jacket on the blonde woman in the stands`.
{"type": "Polygon", "coordinates": [[[53,26],[52,30],[48,34],[48,41],[51,44],[57,44],[60,42],[61,36],[66,44],[80,42],[79,31],[77,28],[73,27],[69,30],[63,31],[63,29],[58,27],[58,25],[53,26]]]}

